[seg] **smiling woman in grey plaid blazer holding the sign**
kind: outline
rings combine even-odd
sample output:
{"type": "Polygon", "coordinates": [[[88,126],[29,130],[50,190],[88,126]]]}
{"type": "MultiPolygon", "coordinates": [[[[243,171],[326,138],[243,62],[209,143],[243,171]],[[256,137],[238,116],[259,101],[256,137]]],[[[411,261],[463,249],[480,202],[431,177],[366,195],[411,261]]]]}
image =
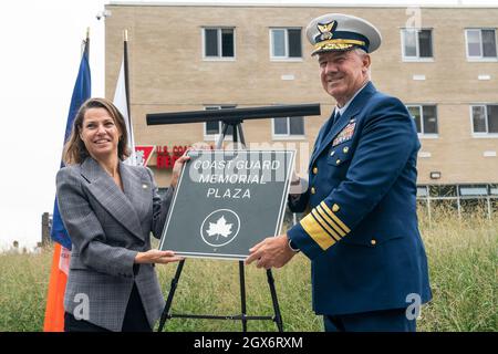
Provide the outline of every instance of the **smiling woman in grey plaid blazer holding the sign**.
{"type": "Polygon", "coordinates": [[[160,199],[148,168],[128,166],[125,122],[105,98],[81,106],[56,176],[59,210],[73,243],[64,296],[69,331],[152,331],[164,309],[155,263],[178,261],[151,249],[160,237],[172,188],[160,199]]]}

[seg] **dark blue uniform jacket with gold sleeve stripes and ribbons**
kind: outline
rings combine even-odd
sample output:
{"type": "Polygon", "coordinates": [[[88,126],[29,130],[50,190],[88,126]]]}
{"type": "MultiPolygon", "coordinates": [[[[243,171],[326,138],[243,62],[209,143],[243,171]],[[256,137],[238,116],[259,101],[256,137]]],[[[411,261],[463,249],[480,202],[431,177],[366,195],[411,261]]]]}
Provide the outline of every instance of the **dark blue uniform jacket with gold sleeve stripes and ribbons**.
{"type": "Polygon", "coordinates": [[[307,215],[288,230],[311,259],[318,314],[406,308],[411,294],[430,299],[416,216],[419,147],[405,105],[372,83],[321,128],[308,191],[289,198],[292,211],[307,215]]]}

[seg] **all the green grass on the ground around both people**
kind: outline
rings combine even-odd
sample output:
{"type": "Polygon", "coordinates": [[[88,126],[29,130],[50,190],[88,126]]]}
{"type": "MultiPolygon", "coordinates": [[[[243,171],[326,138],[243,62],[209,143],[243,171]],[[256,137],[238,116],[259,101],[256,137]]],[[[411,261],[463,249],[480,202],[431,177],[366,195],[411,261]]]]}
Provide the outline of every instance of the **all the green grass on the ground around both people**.
{"type": "MultiPolygon", "coordinates": [[[[498,331],[498,220],[421,214],[433,301],[422,309],[418,331],[498,331]]],[[[52,249],[41,254],[0,256],[0,331],[41,331],[52,249]]],[[[158,266],[165,295],[176,264],[158,266]]],[[[311,310],[310,264],[302,254],[273,270],[286,331],[322,331],[311,310]]],[[[272,315],[266,272],[246,268],[248,315],[272,315]]],[[[238,262],[188,259],[173,313],[240,313],[238,262]]],[[[271,321],[249,321],[249,331],[274,331],[271,321]]],[[[240,331],[240,321],[173,319],[167,331],[240,331]]]]}

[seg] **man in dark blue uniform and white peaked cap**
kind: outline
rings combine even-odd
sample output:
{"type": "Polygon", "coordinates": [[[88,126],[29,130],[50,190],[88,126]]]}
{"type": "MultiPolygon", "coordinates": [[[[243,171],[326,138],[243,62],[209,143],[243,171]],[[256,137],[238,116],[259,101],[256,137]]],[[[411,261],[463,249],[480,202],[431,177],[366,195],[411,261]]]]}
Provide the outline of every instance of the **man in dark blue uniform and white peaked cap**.
{"type": "Polygon", "coordinates": [[[309,187],[289,198],[292,211],[309,212],[251,248],[246,263],[279,268],[302,251],[325,331],[415,331],[413,310],[432,296],[416,216],[415,124],[370,82],[370,53],[381,44],[371,23],[330,13],[307,35],[336,101],[317,137],[309,187]]]}

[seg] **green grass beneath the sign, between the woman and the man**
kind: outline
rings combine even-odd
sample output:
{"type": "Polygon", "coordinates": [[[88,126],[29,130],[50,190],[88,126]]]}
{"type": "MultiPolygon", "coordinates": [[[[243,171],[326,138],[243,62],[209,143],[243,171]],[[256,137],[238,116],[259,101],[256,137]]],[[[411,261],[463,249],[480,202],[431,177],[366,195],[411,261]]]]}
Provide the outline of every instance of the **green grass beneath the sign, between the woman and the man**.
{"type": "MultiPolygon", "coordinates": [[[[159,279],[169,290],[176,264],[159,268],[159,279]]],[[[309,261],[295,257],[286,268],[273,270],[286,331],[321,331],[321,319],[311,310],[309,261]]],[[[248,315],[273,315],[267,273],[246,267],[248,315]]],[[[241,313],[237,261],[187,259],[173,302],[173,313],[236,315],[241,313]]],[[[252,320],[250,331],[276,331],[272,321],[252,320]]],[[[240,321],[184,320],[167,322],[168,331],[240,331],[240,321]]]]}

